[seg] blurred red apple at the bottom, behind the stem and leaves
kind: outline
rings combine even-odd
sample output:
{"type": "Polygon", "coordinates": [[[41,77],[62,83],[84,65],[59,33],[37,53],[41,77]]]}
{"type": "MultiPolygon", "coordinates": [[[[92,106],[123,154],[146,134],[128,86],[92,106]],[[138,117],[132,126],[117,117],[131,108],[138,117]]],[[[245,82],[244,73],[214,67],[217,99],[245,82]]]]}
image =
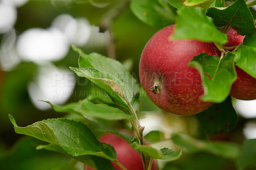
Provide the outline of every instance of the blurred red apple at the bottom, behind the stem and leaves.
{"type": "MultiPolygon", "coordinates": [[[[115,134],[107,133],[99,138],[101,143],[108,143],[116,151],[117,160],[127,169],[127,170],[143,170],[143,162],[140,154],[130,147],[121,137],[115,134]]],[[[115,162],[111,162],[115,170],[122,170],[115,162]]],[[[92,170],[92,167],[87,167],[87,170],[92,170]]],[[[156,161],[153,161],[152,170],[157,170],[156,161]]]]}

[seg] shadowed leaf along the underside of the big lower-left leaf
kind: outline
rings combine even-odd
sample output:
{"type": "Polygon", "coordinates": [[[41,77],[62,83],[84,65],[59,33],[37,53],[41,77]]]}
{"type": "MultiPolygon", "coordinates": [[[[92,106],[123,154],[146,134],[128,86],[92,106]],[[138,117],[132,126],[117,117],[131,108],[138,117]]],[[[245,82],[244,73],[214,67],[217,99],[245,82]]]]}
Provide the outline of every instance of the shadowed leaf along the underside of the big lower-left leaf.
{"type": "Polygon", "coordinates": [[[94,155],[81,155],[81,156],[72,156],[68,154],[61,146],[58,146],[57,144],[47,144],[47,145],[39,145],[36,147],[37,150],[49,150],[49,151],[56,151],[59,153],[62,153],[63,155],[66,155],[67,157],[74,158],[78,160],[79,162],[82,162],[83,164],[86,164],[87,166],[90,166],[94,169],[102,169],[102,170],[112,170],[113,166],[111,162],[102,157],[97,157],[94,155]]]}

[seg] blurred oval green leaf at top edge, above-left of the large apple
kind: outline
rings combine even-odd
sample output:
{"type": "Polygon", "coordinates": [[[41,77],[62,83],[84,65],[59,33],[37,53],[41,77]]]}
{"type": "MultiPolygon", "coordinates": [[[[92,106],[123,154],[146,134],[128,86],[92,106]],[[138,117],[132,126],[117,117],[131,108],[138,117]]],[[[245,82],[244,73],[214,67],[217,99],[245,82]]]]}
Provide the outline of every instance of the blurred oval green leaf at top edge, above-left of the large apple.
{"type": "Polygon", "coordinates": [[[132,0],[130,7],[138,19],[150,26],[166,27],[175,21],[175,14],[163,0],[132,0]]]}

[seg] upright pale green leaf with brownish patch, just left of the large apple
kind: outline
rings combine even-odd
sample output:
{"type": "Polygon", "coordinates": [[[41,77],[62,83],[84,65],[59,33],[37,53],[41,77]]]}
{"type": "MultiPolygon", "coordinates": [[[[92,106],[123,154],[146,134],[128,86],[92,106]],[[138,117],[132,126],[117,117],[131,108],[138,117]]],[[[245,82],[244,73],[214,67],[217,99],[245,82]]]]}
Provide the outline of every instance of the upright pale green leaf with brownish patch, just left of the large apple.
{"type": "Polygon", "coordinates": [[[80,55],[80,68],[70,68],[72,71],[100,86],[116,104],[127,109],[131,109],[132,104],[134,109],[138,109],[140,88],[121,63],[97,53],[86,55],[74,46],[73,49],[80,55]]]}

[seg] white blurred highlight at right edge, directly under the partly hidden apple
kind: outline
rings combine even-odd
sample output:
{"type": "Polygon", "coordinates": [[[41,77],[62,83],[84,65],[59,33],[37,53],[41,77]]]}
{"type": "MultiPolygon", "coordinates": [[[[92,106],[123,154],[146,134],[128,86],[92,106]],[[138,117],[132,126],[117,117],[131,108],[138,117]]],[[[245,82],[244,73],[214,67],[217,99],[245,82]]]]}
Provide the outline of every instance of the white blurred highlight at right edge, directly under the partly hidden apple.
{"type": "Polygon", "coordinates": [[[244,118],[256,118],[256,100],[232,100],[236,112],[244,118]]]}

